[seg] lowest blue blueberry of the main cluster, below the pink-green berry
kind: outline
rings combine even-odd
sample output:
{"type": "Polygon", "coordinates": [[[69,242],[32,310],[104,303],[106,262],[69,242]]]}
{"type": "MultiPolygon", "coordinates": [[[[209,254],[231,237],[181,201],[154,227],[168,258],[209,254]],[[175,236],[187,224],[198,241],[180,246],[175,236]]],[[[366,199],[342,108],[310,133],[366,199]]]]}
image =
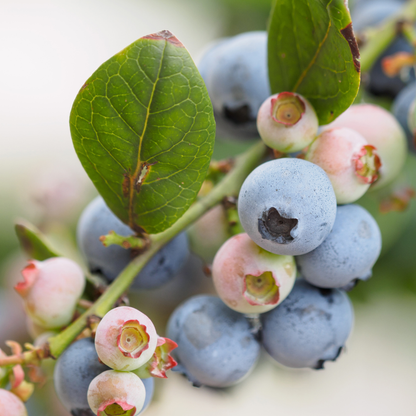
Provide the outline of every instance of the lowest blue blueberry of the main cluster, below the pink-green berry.
{"type": "Polygon", "coordinates": [[[167,336],[178,344],[173,351],[179,365],[196,386],[228,387],[254,367],[260,345],[244,315],[215,296],[194,296],[171,315],[167,336]]]}

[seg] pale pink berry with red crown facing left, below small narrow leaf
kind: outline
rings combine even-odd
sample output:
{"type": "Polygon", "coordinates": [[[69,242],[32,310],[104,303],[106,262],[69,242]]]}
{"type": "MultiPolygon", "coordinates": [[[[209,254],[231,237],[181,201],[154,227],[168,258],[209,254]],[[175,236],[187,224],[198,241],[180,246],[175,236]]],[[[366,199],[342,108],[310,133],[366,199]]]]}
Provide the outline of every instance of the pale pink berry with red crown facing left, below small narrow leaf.
{"type": "Polygon", "coordinates": [[[27,314],[37,325],[59,328],[69,324],[85,287],[82,269],[74,261],[53,257],[29,261],[15,286],[27,314]]]}

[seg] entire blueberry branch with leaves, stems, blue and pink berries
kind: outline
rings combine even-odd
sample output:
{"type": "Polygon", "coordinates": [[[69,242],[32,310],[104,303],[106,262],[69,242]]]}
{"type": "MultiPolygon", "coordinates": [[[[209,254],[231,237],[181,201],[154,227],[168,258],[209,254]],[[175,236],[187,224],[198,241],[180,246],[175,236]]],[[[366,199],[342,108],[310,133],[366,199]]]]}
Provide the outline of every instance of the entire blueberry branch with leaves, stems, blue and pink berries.
{"type": "Polygon", "coordinates": [[[342,356],[348,292],[414,214],[416,137],[416,2],[356,1],[353,20],[347,3],[275,0],[267,32],[219,39],[198,66],[149,34],[85,81],[70,130],[99,196],[77,226],[83,262],[16,224],[33,344],[0,349],[0,416],[27,415],[52,360],[72,415],[136,416],[168,370],[222,389],[262,349],[291,368],[342,356]],[[247,150],[212,159],[227,140],[247,150]],[[165,330],[129,298],[189,251],[217,296],[178,302],[165,330]]]}

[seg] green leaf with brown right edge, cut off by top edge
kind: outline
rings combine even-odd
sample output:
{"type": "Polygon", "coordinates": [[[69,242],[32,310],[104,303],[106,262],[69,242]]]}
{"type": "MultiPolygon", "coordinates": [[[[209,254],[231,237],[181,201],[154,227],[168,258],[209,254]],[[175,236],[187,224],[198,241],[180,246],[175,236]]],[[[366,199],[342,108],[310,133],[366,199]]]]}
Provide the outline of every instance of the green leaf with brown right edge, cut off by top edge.
{"type": "Polygon", "coordinates": [[[346,0],[276,0],[269,24],[268,64],[273,93],[306,97],[320,124],[354,101],[360,62],[346,0]]]}

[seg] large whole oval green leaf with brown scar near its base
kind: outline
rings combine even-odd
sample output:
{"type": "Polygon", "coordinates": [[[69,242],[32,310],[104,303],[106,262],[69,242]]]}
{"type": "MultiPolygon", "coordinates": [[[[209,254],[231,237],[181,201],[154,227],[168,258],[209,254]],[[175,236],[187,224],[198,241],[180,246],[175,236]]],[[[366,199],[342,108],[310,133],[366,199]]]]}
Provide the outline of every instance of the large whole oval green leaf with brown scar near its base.
{"type": "Polygon", "coordinates": [[[160,233],[195,200],[215,121],[205,84],[168,31],[145,36],[100,66],[75,99],[71,134],[109,208],[138,233],[160,233]]]}

